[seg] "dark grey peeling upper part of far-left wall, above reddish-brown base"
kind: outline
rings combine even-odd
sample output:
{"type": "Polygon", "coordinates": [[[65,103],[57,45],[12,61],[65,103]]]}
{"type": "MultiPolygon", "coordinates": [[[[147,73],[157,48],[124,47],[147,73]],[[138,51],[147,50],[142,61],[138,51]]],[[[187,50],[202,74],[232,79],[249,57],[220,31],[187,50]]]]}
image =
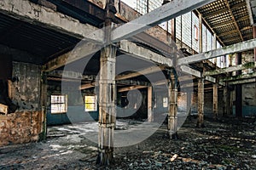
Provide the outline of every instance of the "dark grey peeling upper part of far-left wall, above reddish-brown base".
{"type": "Polygon", "coordinates": [[[40,111],[41,68],[28,63],[13,63],[11,99],[19,106],[18,111],[40,111]]]}

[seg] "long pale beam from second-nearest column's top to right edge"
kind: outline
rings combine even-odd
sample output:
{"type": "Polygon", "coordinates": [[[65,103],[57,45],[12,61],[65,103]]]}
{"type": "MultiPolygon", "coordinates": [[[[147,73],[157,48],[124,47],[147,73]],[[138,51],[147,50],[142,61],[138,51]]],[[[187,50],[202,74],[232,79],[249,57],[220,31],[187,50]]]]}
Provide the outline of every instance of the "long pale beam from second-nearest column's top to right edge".
{"type": "Polygon", "coordinates": [[[201,54],[191,55],[185,58],[177,59],[177,65],[188,65],[199,62],[204,59],[213,59],[226,54],[234,54],[242,51],[247,51],[256,47],[256,39],[248,40],[246,42],[239,42],[224,48],[218,48],[201,54]]]}

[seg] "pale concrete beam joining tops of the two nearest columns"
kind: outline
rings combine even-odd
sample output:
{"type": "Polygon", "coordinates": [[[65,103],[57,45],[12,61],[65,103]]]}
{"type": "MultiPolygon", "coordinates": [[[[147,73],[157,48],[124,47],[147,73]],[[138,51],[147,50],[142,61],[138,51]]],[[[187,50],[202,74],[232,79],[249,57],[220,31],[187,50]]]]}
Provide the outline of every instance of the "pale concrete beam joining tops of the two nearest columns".
{"type": "Polygon", "coordinates": [[[139,59],[145,59],[153,61],[154,63],[160,64],[160,65],[166,65],[168,67],[172,67],[172,59],[166,58],[164,55],[160,55],[157,53],[154,53],[153,51],[143,48],[141,46],[138,46],[134,42],[129,42],[126,40],[123,40],[120,42],[119,50],[131,54],[134,57],[137,57],[139,59]]]}

